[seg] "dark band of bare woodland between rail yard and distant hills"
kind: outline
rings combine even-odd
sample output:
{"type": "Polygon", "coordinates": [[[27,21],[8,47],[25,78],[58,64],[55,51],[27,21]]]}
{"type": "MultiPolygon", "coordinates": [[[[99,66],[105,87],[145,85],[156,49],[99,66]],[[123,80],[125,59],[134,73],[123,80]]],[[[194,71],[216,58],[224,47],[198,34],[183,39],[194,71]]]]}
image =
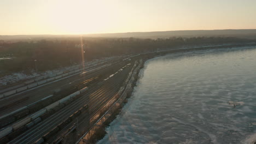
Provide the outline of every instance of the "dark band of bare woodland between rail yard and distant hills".
{"type": "Polygon", "coordinates": [[[136,38],[72,38],[38,41],[0,43],[0,69],[20,71],[37,69],[39,71],[59,68],[83,60],[130,55],[162,49],[176,49],[185,45],[249,43],[252,40],[228,37],[195,37],[168,39],[136,38]]]}

